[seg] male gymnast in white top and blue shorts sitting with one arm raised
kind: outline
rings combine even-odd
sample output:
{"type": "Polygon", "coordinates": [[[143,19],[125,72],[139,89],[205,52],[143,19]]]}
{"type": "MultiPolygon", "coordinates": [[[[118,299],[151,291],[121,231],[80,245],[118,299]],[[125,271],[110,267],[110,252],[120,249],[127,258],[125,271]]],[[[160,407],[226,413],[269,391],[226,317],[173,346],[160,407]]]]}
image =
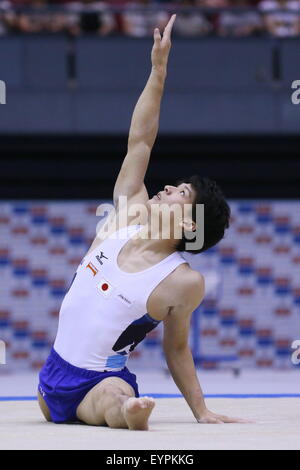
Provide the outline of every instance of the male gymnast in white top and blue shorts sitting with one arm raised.
{"type": "MultiPolygon", "coordinates": [[[[208,178],[193,176],[166,185],[151,199],[144,185],[158,131],[175,18],[171,16],[162,36],[154,30],[150,77],[133,112],[127,154],[114,186],[114,220],[126,210],[126,222],[119,223],[115,232],[98,233],[83,258],[62,302],[57,336],[39,374],[39,405],[46,420],[54,423],[80,421],[147,430],[155,401],[139,396],[136,376],[126,362],[160,322],[168,368],[197,422],[245,421],[206,407],[188,345],[191,315],[204,297],[204,278],[181,255],[185,233],[199,224],[196,205],[204,204],[204,243],[194,253],[223,238],[229,206],[208,178]],[[126,209],[121,196],[127,198],[126,209]],[[143,224],[136,224],[129,214],[136,204],[146,209],[143,224]],[[163,224],[154,228],[154,236],[150,233],[152,209],[160,217],[163,206],[182,209],[179,217],[175,213],[171,217],[168,238],[162,236],[163,224]],[[188,212],[183,210],[186,206],[188,212]],[[181,237],[175,233],[178,227],[181,237]]],[[[113,227],[111,221],[108,224],[113,227]]]]}

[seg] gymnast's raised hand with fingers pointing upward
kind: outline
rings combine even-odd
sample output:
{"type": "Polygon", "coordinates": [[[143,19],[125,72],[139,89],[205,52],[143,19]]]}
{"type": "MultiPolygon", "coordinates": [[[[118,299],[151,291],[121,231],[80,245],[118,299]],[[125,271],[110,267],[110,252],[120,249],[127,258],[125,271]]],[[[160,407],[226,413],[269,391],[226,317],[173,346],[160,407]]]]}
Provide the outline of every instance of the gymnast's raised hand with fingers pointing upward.
{"type": "Polygon", "coordinates": [[[172,15],[167,23],[163,35],[158,28],[154,30],[154,44],[151,52],[152,66],[158,69],[167,67],[169,52],[171,49],[171,32],[176,15],[172,15]]]}

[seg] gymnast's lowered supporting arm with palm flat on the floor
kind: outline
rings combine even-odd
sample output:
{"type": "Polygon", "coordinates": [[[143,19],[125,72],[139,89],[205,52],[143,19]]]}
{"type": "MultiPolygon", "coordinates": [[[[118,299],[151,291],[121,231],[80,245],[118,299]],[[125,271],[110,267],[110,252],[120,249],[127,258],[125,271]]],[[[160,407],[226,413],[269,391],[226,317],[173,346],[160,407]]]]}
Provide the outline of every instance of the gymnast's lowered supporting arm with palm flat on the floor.
{"type": "Polygon", "coordinates": [[[181,285],[176,289],[176,296],[181,298],[181,305],[172,308],[164,320],[163,348],[173,380],[198,423],[249,422],[248,420],[213,413],[206,407],[194,359],[188,345],[192,312],[204,297],[204,279],[201,274],[194,271],[184,284],[186,284],[185,289],[182,290],[181,280],[181,285]]]}

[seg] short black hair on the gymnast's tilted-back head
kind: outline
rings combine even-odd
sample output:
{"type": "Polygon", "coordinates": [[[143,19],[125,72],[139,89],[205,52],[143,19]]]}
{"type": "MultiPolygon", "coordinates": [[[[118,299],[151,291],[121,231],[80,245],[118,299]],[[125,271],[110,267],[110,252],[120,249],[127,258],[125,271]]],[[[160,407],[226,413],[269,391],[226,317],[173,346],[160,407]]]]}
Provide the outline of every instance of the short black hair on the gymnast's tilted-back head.
{"type": "Polygon", "coordinates": [[[179,186],[182,183],[190,183],[196,193],[192,207],[194,222],[196,222],[196,204],[204,204],[204,244],[199,250],[186,250],[186,243],[193,243],[193,240],[186,239],[183,234],[177,246],[177,251],[187,251],[194,254],[202,253],[216,245],[224,237],[225,229],[229,227],[230,207],[221,188],[215,181],[207,177],[193,175],[188,178],[181,178],[176,185],[179,186]]]}

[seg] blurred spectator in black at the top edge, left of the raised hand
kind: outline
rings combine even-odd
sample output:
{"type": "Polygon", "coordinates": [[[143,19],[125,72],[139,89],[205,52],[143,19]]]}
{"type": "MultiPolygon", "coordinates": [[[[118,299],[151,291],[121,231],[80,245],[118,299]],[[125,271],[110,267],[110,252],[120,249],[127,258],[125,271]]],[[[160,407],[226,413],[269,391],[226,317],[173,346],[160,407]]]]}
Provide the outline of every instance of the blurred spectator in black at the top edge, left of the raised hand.
{"type": "Polygon", "coordinates": [[[72,2],[66,6],[70,12],[67,15],[66,30],[77,36],[80,33],[96,33],[106,36],[115,30],[114,15],[110,13],[107,4],[94,0],[72,2]]]}

